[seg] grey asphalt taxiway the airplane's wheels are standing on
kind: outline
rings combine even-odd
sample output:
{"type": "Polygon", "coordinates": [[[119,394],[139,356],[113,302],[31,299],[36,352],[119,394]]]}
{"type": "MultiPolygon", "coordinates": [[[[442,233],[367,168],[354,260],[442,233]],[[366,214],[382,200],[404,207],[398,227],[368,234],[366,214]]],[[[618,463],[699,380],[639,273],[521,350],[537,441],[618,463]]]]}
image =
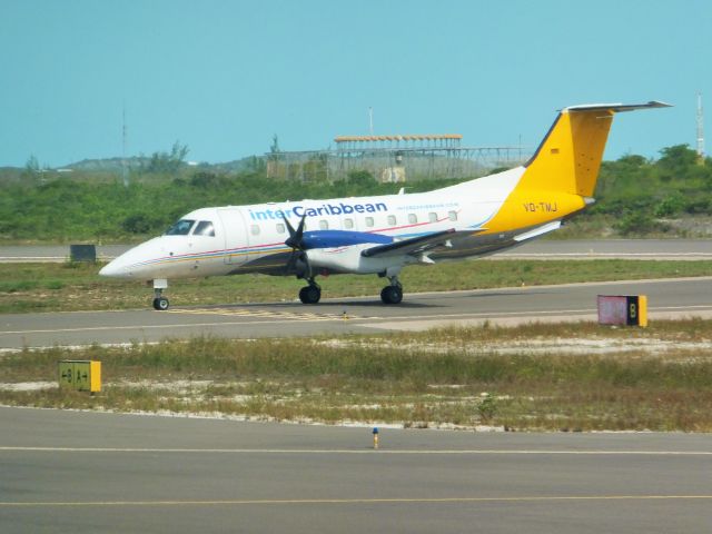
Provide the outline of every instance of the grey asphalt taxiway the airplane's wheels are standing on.
{"type": "MultiPolygon", "coordinates": [[[[123,312],[0,315],[0,348],[122,344],[216,335],[233,338],[419,330],[445,325],[595,320],[597,295],[647,295],[649,317],[712,317],[712,277],[406,294],[378,297],[123,312]]],[[[147,300],[148,303],[148,300],[147,300]]]]}

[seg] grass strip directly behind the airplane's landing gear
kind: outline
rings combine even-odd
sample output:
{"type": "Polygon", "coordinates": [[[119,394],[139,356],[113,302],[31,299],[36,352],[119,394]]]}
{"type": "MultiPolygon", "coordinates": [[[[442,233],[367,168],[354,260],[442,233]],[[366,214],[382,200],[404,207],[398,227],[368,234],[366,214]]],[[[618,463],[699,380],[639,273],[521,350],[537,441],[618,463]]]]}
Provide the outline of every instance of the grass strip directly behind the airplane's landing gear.
{"type": "MultiPolygon", "coordinates": [[[[0,313],[68,312],[149,307],[151,287],[98,276],[100,265],[0,264],[0,313]]],[[[476,260],[413,266],[400,277],[408,293],[534,286],[577,281],[712,275],[712,261],[636,260],[476,260]]],[[[325,297],[369,295],[378,298],[376,276],[318,278],[325,297]]],[[[304,281],[263,275],[170,280],[172,305],[295,300],[304,281]]]]}

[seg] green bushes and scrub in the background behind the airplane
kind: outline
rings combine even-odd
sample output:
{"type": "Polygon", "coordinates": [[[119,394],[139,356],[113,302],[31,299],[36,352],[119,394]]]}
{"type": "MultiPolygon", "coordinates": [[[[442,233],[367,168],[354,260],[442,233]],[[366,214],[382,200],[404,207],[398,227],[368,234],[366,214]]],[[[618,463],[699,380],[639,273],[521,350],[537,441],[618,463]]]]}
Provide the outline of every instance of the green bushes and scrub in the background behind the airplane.
{"type": "MultiPolygon", "coordinates": [[[[454,181],[411,182],[407,191],[454,181]]],[[[248,170],[186,165],[134,169],[129,187],[119,171],[0,169],[0,243],[137,241],[199,207],[382,195],[399,187],[378,184],[365,171],[335,182],[277,180],[267,178],[260,165],[248,170]]],[[[699,162],[693,150],[679,145],[662,149],[656,160],[630,155],[604,161],[596,198],[596,205],[556,235],[709,237],[712,159],[699,162]]]]}

